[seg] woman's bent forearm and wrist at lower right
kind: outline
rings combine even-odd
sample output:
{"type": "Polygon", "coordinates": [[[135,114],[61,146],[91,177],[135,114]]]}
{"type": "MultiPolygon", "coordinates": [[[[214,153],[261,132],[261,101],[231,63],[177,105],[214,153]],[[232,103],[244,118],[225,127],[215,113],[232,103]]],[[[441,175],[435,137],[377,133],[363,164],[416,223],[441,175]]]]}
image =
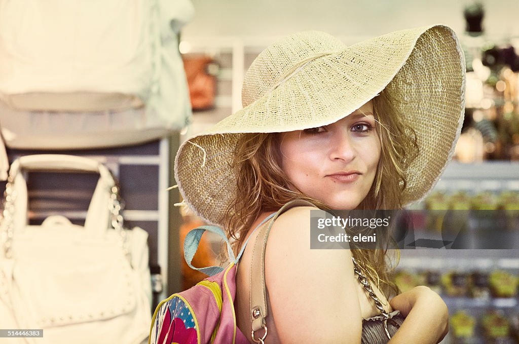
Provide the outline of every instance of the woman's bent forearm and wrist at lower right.
{"type": "MultiPolygon", "coordinates": [[[[406,332],[417,331],[432,343],[440,342],[448,332],[448,309],[442,298],[429,287],[420,285],[393,297],[389,304],[406,319],[390,342],[407,342],[406,332]],[[401,331],[403,333],[401,333],[401,331]],[[398,337],[398,338],[397,338],[398,337]],[[400,340],[400,337],[402,340],[400,340]]],[[[419,341],[429,342],[429,341],[419,341]]]]}

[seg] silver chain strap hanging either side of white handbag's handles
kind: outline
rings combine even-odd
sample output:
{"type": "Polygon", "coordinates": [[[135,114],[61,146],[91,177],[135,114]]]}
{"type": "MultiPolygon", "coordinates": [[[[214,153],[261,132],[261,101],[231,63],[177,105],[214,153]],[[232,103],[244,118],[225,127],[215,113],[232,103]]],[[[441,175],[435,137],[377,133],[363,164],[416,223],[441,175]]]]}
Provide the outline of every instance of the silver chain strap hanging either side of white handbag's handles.
{"type": "MultiPolygon", "coordinates": [[[[7,178],[7,184],[4,191],[4,212],[3,212],[3,224],[4,228],[4,253],[6,258],[12,258],[12,238],[14,232],[14,217],[15,217],[15,198],[16,192],[14,191],[14,177],[9,175],[7,178]]],[[[126,229],[124,228],[124,218],[121,215],[121,211],[124,208],[124,203],[121,203],[119,197],[119,187],[116,185],[110,189],[110,202],[108,204],[108,210],[112,216],[111,224],[115,231],[119,233],[121,237],[122,251],[124,252],[130,266],[131,253],[129,250],[128,236],[126,229]]],[[[132,266],[133,268],[133,266],[132,266]]]]}

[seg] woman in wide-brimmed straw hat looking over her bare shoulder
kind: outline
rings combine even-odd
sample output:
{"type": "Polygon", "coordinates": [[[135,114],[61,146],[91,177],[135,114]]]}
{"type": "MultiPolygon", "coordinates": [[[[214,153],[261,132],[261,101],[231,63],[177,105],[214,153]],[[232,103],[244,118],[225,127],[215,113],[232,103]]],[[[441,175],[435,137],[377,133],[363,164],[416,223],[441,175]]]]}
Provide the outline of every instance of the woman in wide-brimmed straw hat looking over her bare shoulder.
{"type": "MultiPolygon", "coordinates": [[[[237,239],[236,252],[295,199],[321,209],[400,209],[425,197],[452,156],[464,93],[463,55],[446,26],[351,47],[320,32],[291,35],[249,68],[244,108],[181,146],[176,180],[199,216],[237,239]]],[[[283,213],[268,238],[267,342],[440,341],[448,321],[441,298],[417,287],[388,302],[397,289],[384,251],[310,250],[311,209],[283,213]]],[[[236,278],[245,334],[251,251],[244,247],[236,278]]]]}

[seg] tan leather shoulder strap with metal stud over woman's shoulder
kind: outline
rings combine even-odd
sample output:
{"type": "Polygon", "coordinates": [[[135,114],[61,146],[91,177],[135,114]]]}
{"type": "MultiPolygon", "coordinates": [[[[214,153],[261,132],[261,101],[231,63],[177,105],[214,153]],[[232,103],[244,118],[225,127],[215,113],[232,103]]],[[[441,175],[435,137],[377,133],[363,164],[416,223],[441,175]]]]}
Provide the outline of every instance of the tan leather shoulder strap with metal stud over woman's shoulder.
{"type": "Polygon", "coordinates": [[[314,204],[297,199],[290,201],[283,205],[280,210],[266,222],[258,232],[256,240],[254,241],[254,247],[252,250],[252,264],[251,264],[251,281],[250,281],[250,320],[252,328],[252,339],[255,342],[263,342],[267,335],[266,317],[267,317],[267,286],[265,284],[265,250],[267,247],[267,239],[270,229],[276,221],[276,218],[283,212],[294,208],[294,207],[315,207],[314,204]],[[263,338],[254,338],[254,332],[263,328],[265,330],[263,338]]]}

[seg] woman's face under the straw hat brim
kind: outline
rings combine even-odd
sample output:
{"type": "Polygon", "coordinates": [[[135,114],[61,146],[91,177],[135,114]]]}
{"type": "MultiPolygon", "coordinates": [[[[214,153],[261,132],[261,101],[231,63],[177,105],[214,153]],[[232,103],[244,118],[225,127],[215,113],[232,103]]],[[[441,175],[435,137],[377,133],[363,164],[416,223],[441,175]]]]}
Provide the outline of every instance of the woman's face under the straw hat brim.
{"type": "Polygon", "coordinates": [[[303,194],[332,209],[354,209],[380,158],[373,103],[331,125],[281,133],[281,168],[303,194]]]}

